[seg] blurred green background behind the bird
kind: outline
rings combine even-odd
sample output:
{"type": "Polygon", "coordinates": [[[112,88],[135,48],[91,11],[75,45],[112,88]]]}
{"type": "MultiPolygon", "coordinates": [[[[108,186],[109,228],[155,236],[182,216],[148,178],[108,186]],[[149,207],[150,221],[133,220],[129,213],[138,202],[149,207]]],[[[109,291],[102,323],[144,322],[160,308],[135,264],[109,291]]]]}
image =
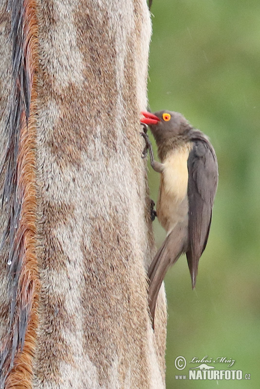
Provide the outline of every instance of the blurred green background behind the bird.
{"type": "MultiPolygon", "coordinates": [[[[196,289],[185,257],[166,277],[167,389],[259,389],[260,1],[154,0],[151,13],[150,109],[183,113],[210,137],[219,161],[196,289]],[[179,355],[187,359],[183,371],[174,366],[179,355]],[[192,357],[205,355],[235,359],[230,369],[250,373],[251,380],[175,379],[188,374],[192,357]]],[[[156,200],[159,175],[151,170],[156,200]]],[[[166,233],[157,220],[154,231],[159,247],[166,233]]]]}

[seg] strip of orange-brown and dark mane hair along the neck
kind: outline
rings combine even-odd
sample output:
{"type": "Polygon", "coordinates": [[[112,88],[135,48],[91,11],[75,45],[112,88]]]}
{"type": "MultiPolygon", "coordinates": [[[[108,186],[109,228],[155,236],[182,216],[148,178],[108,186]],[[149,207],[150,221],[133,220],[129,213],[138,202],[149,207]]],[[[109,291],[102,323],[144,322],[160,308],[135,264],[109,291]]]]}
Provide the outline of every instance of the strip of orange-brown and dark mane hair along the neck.
{"type": "Polygon", "coordinates": [[[13,87],[6,126],[8,144],[1,165],[5,172],[2,207],[9,219],[2,245],[9,245],[9,334],[0,354],[0,386],[31,388],[32,357],[37,328],[38,271],[36,259],[36,68],[35,0],[10,1],[13,43],[13,87]]]}

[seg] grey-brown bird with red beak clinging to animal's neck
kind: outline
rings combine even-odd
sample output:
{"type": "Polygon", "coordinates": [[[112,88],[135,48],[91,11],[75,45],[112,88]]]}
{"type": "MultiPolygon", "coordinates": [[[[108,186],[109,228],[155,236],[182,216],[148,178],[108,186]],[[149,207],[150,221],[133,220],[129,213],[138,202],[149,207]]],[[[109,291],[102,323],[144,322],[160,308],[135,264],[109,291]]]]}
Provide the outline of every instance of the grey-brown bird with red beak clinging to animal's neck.
{"type": "Polygon", "coordinates": [[[141,124],[149,125],[160,162],[153,157],[147,131],[142,135],[150,152],[152,168],[160,173],[156,215],[167,231],[148,270],[148,301],[152,326],[157,296],[167,273],[186,254],[192,289],[196,285],[199,259],[207,244],[214,198],[218,185],[218,162],[208,137],[179,112],[141,112],[141,124]]]}

